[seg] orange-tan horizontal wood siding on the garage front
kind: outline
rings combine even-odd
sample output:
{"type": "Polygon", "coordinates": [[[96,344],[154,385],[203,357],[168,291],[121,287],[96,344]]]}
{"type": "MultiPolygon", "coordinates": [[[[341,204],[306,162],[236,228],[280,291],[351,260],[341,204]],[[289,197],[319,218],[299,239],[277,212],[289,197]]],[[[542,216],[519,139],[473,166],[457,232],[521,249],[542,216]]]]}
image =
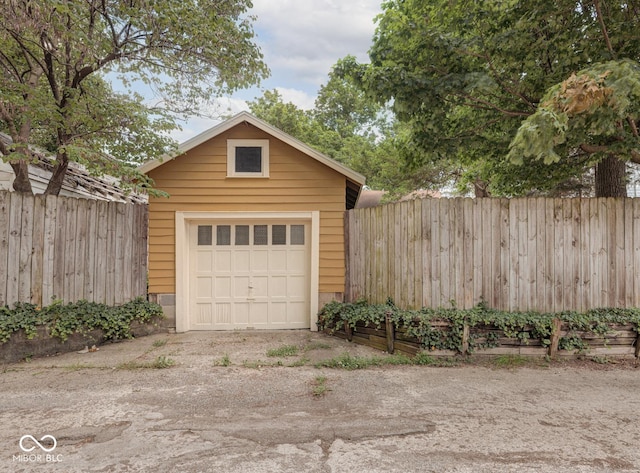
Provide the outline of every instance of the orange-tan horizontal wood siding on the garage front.
{"type": "Polygon", "coordinates": [[[345,177],[286,143],[238,125],[149,172],[149,292],[175,293],[175,212],[320,211],[320,289],[344,291],[345,177]],[[227,139],[269,141],[268,178],[227,178],[227,139]]]}

